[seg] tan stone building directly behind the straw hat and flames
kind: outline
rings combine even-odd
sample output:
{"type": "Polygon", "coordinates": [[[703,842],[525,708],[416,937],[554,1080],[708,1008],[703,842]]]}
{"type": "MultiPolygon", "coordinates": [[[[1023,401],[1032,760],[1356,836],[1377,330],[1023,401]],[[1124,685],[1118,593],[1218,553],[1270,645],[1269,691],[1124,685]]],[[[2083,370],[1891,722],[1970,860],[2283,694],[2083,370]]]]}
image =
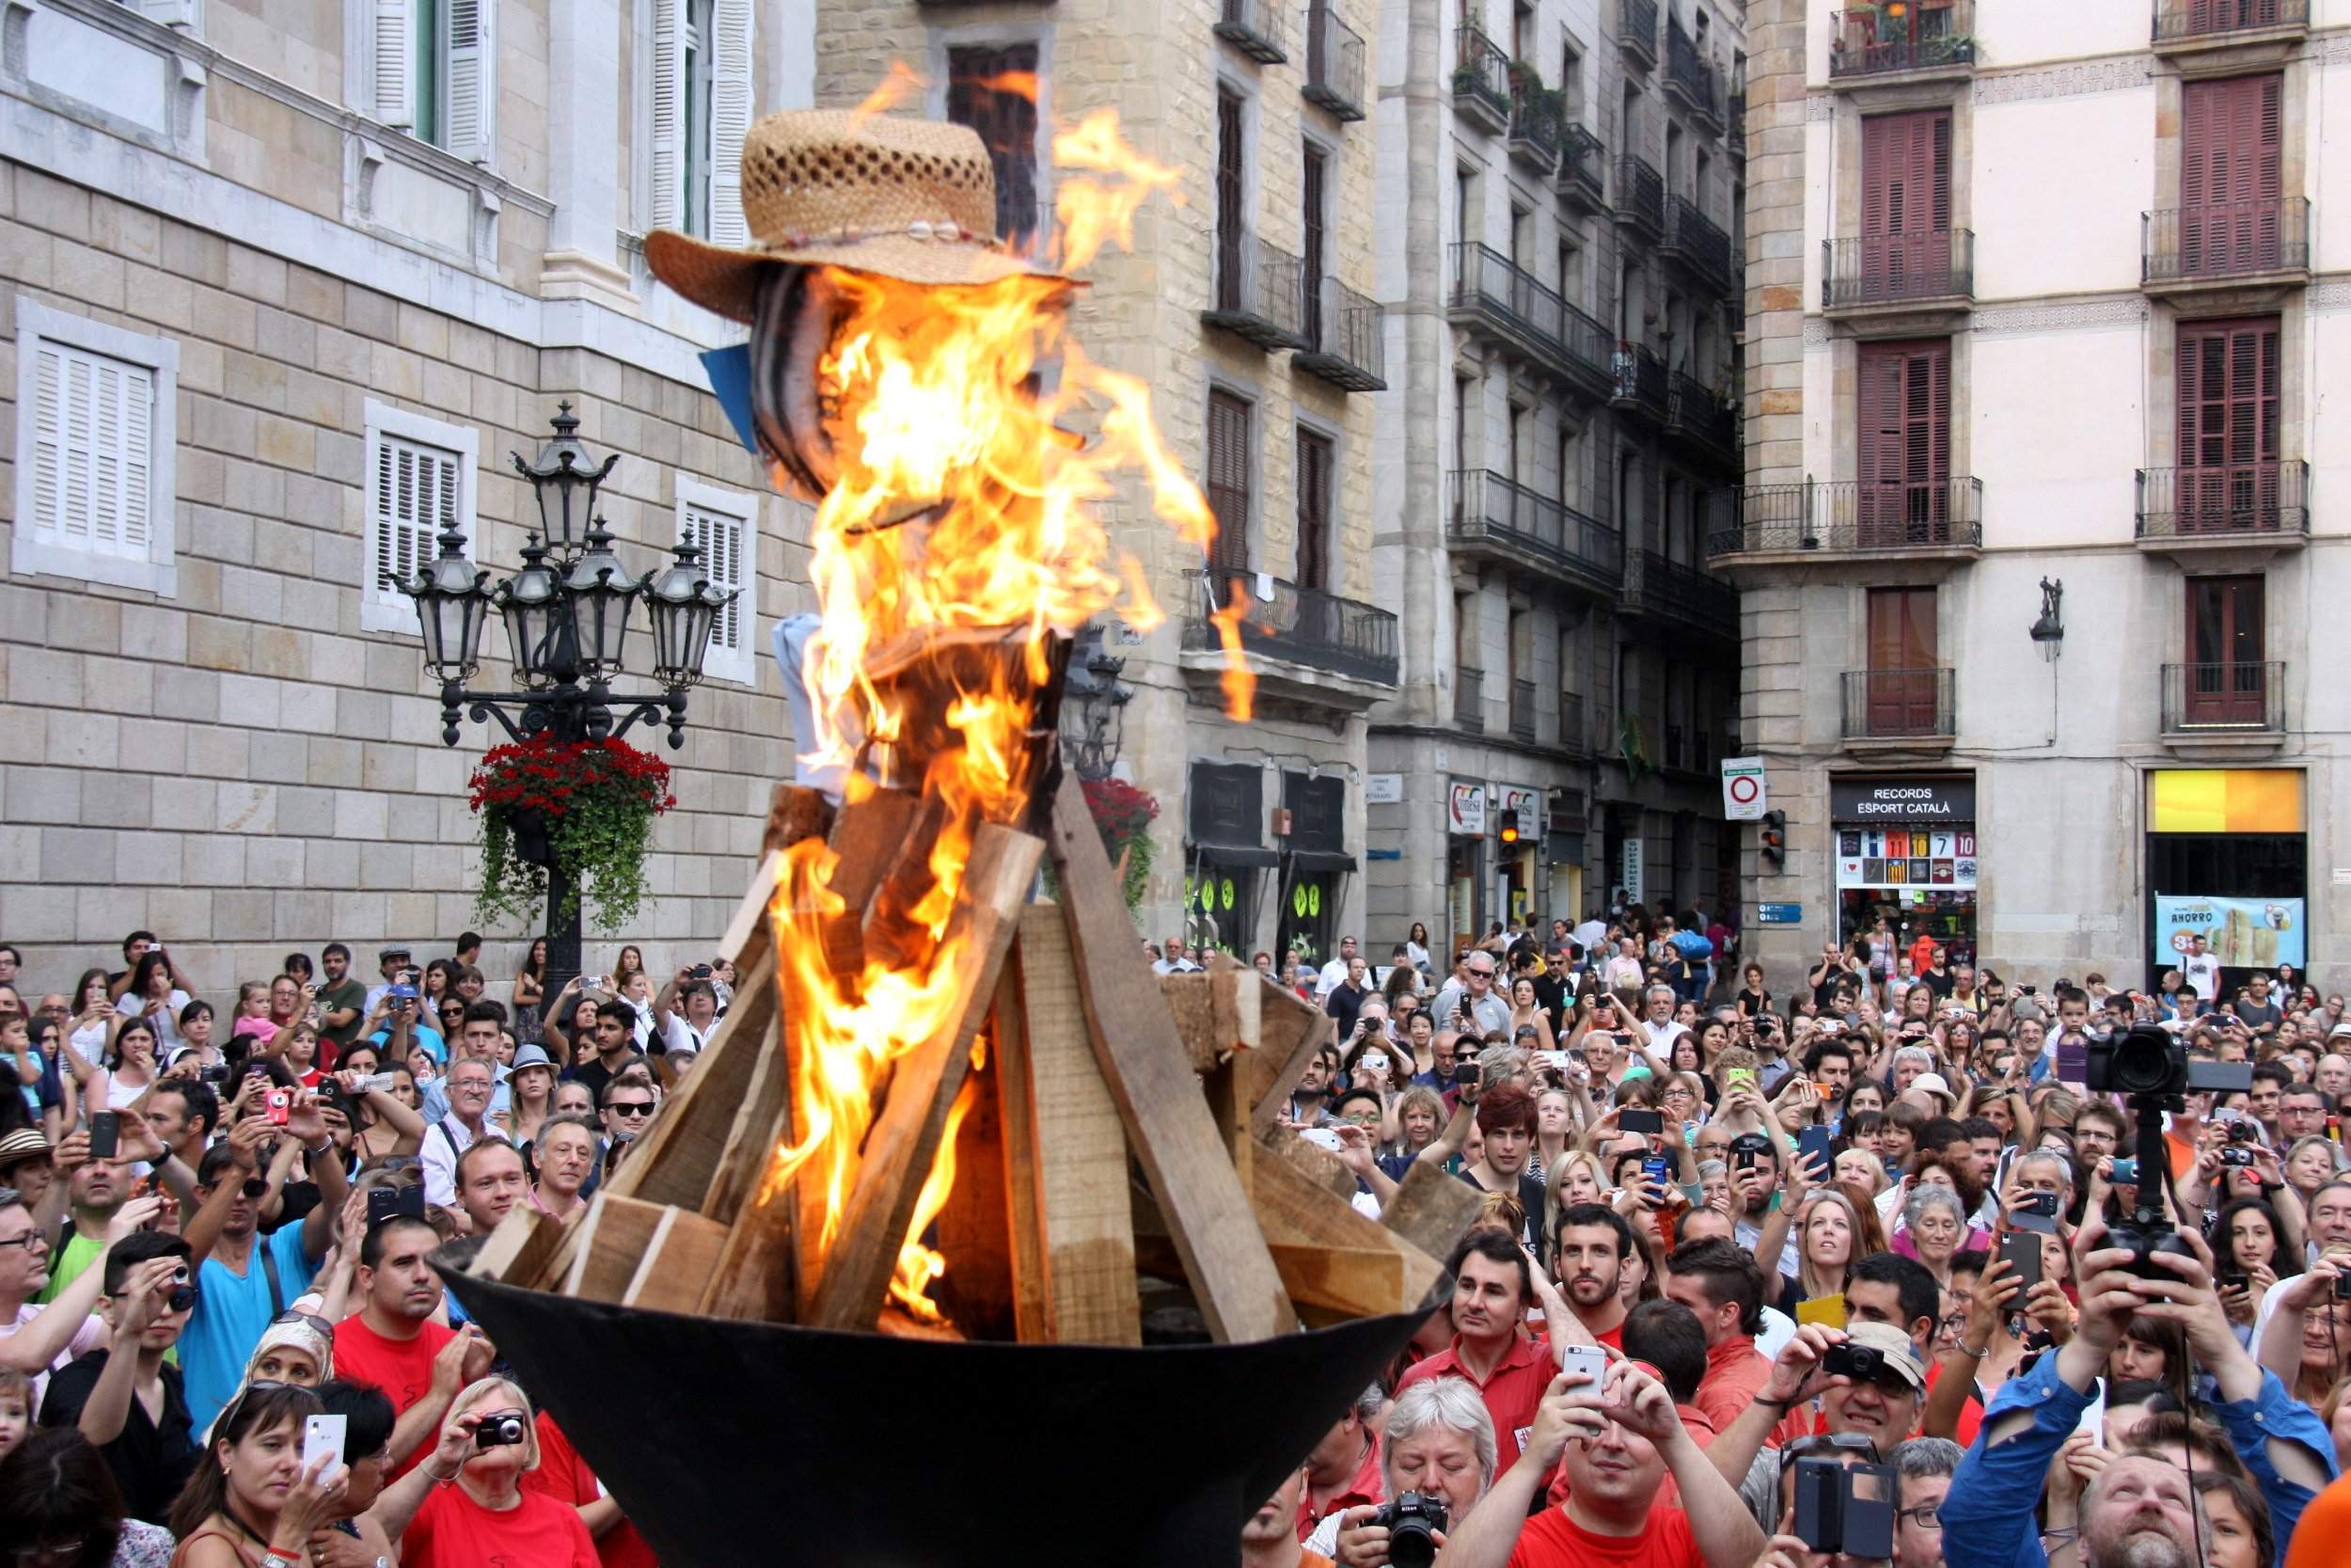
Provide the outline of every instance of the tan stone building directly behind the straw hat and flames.
{"type": "MultiPolygon", "coordinates": [[[[1084,353],[1143,378],[1220,524],[1183,545],[1140,484],[1112,517],[1164,611],[1112,628],[1133,691],[1117,776],[1159,799],[1147,931],[1241,952],[1361,931],[1366,712],[1396,684],[1375,581],[1375,19],[1368,0],[823,0],[816,99],[863,101],[893,61],[903,106],[973,125],[1006,230],[1053,209],[1056,122],[1114,110],[1178,174],[1136,214],[1072,317],[1084,353]],[[1208,614],[1248,602],[1255,712],[1225,715],[1208,614]]],[[[1399,931],[1401,936],[1401,931],[1399,931]]]]}

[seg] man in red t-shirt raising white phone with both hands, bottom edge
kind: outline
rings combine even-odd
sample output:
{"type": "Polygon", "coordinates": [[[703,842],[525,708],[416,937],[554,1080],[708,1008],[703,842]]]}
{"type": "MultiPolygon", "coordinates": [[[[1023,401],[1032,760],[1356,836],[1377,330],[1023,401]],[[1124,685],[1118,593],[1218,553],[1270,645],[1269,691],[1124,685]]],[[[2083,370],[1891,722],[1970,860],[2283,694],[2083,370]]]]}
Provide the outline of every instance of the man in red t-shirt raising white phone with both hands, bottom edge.
{"type": "Polygon", "coordinates": [[[1542,1394],[1526,1453],[1446,1542],[1446,1568],[1747,1568],[1763,1549],[1730,1483],[1634,1361],[1594,1389],[1561,1373],[1542,1394]],[[1554,1465],[1568,1500],[1526,1516],[1554,1465]],[[1672,1472],[1683,1507],[1657,1507],[1672,1472]]]}

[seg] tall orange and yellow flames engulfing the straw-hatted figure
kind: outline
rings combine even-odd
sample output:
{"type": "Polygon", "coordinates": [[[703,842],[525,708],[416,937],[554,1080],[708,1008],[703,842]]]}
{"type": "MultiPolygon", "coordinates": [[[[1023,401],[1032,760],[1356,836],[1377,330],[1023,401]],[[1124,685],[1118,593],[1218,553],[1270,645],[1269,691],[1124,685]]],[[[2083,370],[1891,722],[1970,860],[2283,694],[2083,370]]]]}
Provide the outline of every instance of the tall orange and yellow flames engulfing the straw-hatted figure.
{"type": "MultiPolygon", "coordinates": [[[[893,68],[868,113],[886,108],[907,80],[912,73],[893,68]]],[[[1056,153],[1093,176],[1060,186],[1051,254],[1063,266],[1081,266],[1105,242],[1131,244],[1140,202],[1176,190],[1176,172],[1128,148],[1107,113],[1056,136],[1056,153]]],[[[820,1199],[820,1234],[802,1239],[811,1258],[835,1241],[875,1091],[964,1006],[955,980],[964,936],[950,933],[950,914],[978,825],[1016,823],[1027,811],[1030,729],[1056,639],[1112,609],[1140,628],[1161,618],[1143,567],[1112,550],[1103,524],[1119,475],[1143,477],[1152,508],[1185,543],[1206,550],[1215,536],[1199,487],[1159,437],[1150,388],[1093,364],[1070,341],[1072,284],[1016,275],[915,287],[839,268],[823,282],[846,310],[818,364],[828,404],[839,409],[839,480],[811,529],[820,630],[802,675],[816,708],[806,759],[844,769],[851,799],[875,788],[872,771],[889,771],[898,788],[919,785],[943,806],[943,823],[926,886],[903,910],[889,950],[870,952],[856,973],[835,973],[825,947],[825,924],[846,912],[835,891],[837,853],[804,839],[783,856],[776,952],[785,994],[804,999],[792,1016],[795,1143],[776,1152],[759,1201],[795,1180],[802,1213],[820,1199]],[[1096,435],[1081,442],[1065,423],[1096,435]],[[1016,656],[952,663],[962,675],[945,712],[917,712],[919,682],[893,675],[940,679],[950,665],[924,663],[924,654],[957,635],[966,646],[1013,635],[1016,656]]],[[[1237,649],[1237,637],[1227,628],[1227,646],[1237,649]]],[[[1246,710],[1246,665],[1239,679],[1246,710]]],[[[969,1098],[966,1079],[898,1258],[893,1293],[924,1314],[945,1260],[922,1246],[922,1232],[955,1185],[955,1124],[969,1098]]]]}

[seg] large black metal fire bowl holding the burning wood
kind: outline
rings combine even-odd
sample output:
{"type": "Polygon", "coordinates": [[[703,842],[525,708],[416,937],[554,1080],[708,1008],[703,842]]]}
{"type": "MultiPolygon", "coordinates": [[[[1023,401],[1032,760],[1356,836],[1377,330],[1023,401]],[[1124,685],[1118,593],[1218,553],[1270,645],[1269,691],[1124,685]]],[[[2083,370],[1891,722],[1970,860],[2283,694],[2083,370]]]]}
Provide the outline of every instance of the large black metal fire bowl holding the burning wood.
{"type": "Polygon", "coordinates": [[[665,1568],[1237,1563],[1241,1523],[1425,1316],[957,1345],[447,1279],[665,1568]]]}

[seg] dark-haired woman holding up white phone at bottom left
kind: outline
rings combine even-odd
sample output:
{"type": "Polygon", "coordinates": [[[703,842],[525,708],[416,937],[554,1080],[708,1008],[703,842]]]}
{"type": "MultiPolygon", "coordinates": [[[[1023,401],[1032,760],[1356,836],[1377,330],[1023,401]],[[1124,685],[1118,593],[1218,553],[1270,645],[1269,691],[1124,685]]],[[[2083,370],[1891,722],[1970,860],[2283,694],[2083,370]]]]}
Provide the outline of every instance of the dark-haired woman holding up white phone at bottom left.
{"type": "Polygon", "coordinates": [[[310,1533],[336,1519],[341,1467],[303,1469],[301,1427],[317,1394],[254,1385],[221,1413],[205,1462],[172,1505],[172,1568],[261,1568],[268,1556],[308,1561],[310,1533]]]}

